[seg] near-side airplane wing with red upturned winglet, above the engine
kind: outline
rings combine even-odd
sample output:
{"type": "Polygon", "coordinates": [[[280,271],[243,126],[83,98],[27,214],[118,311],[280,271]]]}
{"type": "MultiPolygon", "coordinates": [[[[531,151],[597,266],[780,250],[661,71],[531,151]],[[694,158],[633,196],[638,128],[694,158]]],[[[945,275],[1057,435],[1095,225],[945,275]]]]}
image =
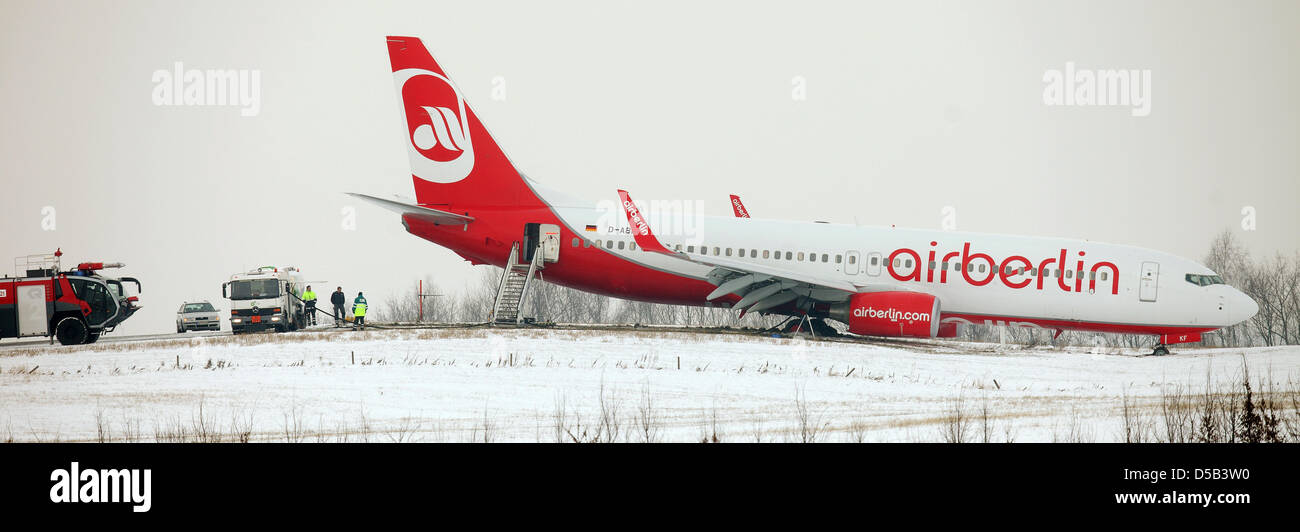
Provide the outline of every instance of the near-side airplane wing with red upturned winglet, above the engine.
{"type": "Polygon", "coordinates": [[[623,202],[623,209],[632,226],[632,238],[636,239],[637,246],[646,251],[712,267],[708,281],[718,289],[708,294],[708,299],[718,299],[727,294],[740,295],[740,302],[732,308],[759,312],[792,300],[836,303],[859,291],[884,289],[883,286],[857,285],[848,280],[796,272],[779,265],[672,251],[654,235],[650,225],[625,190],[619,190],[619,198],[623,202]]]}

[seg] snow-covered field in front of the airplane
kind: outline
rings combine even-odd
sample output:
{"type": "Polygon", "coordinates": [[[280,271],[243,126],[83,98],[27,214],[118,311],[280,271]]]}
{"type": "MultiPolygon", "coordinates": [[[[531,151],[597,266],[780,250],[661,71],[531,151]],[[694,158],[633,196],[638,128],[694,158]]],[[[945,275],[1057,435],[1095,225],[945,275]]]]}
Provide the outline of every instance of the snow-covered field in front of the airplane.
{"type": "Polygon", "coordinates": [[[0,343],[0,441],[942,441],[958,405],[975,441],[1117,441],[1124,394],[1156,416],[1162,386],[1238,381],[1243,359],[1300,379],[1296,346],[1175,351],[484,328],[0,343]]]}

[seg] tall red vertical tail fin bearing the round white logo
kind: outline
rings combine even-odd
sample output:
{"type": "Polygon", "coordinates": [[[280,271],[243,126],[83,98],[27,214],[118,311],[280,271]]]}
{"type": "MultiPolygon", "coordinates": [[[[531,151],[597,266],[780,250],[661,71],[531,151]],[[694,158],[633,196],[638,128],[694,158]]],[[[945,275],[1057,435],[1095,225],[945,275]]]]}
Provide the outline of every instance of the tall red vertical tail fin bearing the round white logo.
{"type": "Polygon", "coordinates": [[[519,170],[442,72],[424,43],[389,36],[402,100],[416,202],[424,206],[515,206],[533,199],[519,170]]]}

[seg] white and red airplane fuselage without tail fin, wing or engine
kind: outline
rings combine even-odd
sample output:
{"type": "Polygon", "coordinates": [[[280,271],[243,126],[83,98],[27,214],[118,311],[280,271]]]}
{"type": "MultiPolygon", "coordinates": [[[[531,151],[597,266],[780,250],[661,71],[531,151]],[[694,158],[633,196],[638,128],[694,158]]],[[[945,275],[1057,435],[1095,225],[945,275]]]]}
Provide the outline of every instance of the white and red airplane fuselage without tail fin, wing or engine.
{"type": "MultiPolygon", "coordinates": [[[[546,264],[546,281],[668,304],[728,307],[740,299],[728,294],[708,300],[715,289],[710,267],[638,248],[627,224],[608,224],[602,208],[547,202],[528,209],[451,209],[482,224],[408,224],[411,233],[474,263],[504,267],[525,224],[556,224],[562,250],[559,260],[546,264]]],[[[942,302],[945,324],[1171,334],[1214,330],[1253,313],[1254,303],[1243,302],[1231,286],[1187,280],[1188,273],[1212,276],[1204,265],[1134,246],[766,219],[694,220],[689,234],[662,232],[659,239],[686,254],[767,263],[875,290],[933,294],[942,302]],[[1234,310],[1234,303],[1245,308],[1234,310]]]]}

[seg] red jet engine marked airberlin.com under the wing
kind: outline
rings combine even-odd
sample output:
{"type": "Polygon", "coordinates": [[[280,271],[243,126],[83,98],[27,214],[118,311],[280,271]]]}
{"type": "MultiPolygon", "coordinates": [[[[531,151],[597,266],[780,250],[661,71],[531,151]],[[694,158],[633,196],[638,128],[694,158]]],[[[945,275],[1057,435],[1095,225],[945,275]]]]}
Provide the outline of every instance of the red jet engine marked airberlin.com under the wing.
{"type": "Polygon", "coordinates": [[[939,298],[919,291],[867,291],[831,307],[829,316],[864,336],[939,336],[939,298]]]}

